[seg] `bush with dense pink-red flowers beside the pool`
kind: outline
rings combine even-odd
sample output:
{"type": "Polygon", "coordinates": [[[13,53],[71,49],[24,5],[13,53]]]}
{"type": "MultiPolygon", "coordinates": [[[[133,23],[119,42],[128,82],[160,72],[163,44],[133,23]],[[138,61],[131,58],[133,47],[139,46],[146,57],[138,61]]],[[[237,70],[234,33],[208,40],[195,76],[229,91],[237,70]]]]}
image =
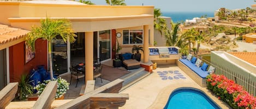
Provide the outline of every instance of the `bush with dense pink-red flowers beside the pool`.
{"type": "Polygon", "coordinates": [[[232,108],[256,108],[256,98],[224,75],[212,74],[207,76],[207,88],[232,108]]]}

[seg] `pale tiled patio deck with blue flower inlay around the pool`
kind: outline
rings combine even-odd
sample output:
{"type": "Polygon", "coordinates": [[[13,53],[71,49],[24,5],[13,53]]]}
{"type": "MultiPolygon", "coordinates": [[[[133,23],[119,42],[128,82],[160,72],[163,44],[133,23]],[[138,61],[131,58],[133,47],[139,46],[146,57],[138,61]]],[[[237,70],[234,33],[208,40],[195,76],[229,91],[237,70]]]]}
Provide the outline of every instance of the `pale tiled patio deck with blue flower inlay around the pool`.
{"type": "Polygon", "coordinates": [[[151,75],[122,91],[121,93],[129,94],[129,100],[120,108],[163,108],[170,93],[178,87],[199,88],[217,102],[219,106],[229,108],[219,101],[217,97],[214,97],[206,88],[201,88],[176,65],[158,65],[151,75]],[[167,75],[165,75],[165,71],[168,72],[167,75]]]}

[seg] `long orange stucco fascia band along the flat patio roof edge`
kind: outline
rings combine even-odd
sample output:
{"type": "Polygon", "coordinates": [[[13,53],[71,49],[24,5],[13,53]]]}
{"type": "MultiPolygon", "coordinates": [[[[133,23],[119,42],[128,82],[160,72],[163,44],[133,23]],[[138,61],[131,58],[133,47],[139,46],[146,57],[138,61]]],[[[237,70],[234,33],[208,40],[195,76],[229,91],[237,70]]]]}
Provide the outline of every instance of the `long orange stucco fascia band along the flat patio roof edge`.
{"type": "MultiPolygon", "coordinates": [[[[72,22],[76,32],[100,31],[117,28],[137,27],[142,25],[153,26],[153,15],[129,15],[129,16],[106,16],[106,17],[51,17],[55,19],[67,18],[72,22]]],[[[41,17],[8,18],[11,26],[21,27],[27,30],[31,25],[39,25],[41,17]]]]}

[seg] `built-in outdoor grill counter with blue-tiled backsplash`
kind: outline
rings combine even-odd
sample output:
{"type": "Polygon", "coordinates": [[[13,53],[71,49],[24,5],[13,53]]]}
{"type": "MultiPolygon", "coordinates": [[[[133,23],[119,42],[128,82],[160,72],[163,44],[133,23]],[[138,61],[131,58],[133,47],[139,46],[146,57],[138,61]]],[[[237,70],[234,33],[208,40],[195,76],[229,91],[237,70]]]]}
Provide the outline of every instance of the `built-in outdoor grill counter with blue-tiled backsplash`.
{"type": "Polygon", "coordinates": [[[180,54],[178,53],[178,47],[149,47],[151,61],[172,61],[180,59],[180,54]]]}

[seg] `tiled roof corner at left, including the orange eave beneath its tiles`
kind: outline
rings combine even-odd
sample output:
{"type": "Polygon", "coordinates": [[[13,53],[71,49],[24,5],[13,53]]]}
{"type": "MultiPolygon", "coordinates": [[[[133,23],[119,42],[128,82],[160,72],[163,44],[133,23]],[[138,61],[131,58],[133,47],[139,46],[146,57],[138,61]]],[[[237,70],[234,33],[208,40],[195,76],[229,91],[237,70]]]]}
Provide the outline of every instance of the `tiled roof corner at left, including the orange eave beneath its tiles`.
{"type": "Polygon", "coordinates": [[[29,31],[0,24],[0,50],[24,41],[29,31]]]}

